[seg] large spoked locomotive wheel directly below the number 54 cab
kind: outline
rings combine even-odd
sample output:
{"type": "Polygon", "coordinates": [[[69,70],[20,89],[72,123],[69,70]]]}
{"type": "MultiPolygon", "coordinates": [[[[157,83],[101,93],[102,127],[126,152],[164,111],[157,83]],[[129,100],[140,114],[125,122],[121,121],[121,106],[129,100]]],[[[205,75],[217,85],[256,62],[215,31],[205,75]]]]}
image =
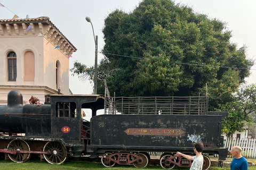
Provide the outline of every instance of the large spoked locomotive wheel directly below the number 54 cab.
{"type": "Polygon", "coordinates": [[[61,164],[68,157],[67,149],[60,142],[47,142],[44,146],[44,151],[51,151],[50,155],[44,154],[45,160],[50,164],[61,164]]]}

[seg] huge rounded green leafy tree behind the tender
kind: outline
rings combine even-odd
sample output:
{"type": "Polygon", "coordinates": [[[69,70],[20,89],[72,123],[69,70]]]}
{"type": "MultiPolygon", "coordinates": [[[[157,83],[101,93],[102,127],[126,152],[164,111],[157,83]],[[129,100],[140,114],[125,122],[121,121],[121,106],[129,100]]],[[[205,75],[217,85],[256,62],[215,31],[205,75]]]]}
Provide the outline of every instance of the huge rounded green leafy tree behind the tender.
{"type": "MultiPolygon", "coordinates": [[[[103,33],[106,58],[99,68],[107,61],[115,70],[107,79],[111,96],[202,96],[207,91],[213,110],[230,99],[253,65],[245,47],[231,43],[225,23],[170,0],[144,0],[130,13],[115,10],[105,19],[103,33]]],[[[98,82],[100,94],[104,87],[98,82]]]]}

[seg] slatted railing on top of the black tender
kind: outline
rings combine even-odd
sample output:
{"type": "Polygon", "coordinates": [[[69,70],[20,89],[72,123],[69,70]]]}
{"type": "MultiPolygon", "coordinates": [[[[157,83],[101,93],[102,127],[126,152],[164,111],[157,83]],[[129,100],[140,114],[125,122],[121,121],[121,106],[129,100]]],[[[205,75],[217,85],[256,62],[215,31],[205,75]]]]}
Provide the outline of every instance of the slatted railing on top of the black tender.
{"type": "Polygon", "coordinates": [[[105,114],[206,115],[208,100],[199,97],[110,97],[105,114]]]}

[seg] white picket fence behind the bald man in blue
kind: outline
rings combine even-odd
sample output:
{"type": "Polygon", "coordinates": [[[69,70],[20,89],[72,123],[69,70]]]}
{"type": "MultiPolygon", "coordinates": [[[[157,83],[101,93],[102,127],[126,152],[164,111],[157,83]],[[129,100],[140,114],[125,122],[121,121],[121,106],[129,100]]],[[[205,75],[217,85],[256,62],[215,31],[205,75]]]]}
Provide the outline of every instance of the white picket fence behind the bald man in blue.
{"type": "MultiPolygon", "coordinates": [[[[253,138],[228,138],[225,141],[225,148],[231,151],[232,147],[240,146],[242,148],[242,155],[246,158],[255,158],[256,154],[256,140],[253,138]]],[[[228,157],[232,157],[228,155],[228,157]]]]}

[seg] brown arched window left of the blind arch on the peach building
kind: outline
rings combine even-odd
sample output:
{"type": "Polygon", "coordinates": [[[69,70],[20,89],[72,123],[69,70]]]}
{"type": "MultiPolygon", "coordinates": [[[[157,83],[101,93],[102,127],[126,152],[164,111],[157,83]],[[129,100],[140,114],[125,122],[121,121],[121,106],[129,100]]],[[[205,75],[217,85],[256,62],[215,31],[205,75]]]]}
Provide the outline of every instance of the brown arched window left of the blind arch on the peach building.
{"type": "Polygon", "coordinates": [[[16,53],[10,52],[7,55],[8,61],[8,80],[16,81],[17,78],[17,57],[16,53]]]}

